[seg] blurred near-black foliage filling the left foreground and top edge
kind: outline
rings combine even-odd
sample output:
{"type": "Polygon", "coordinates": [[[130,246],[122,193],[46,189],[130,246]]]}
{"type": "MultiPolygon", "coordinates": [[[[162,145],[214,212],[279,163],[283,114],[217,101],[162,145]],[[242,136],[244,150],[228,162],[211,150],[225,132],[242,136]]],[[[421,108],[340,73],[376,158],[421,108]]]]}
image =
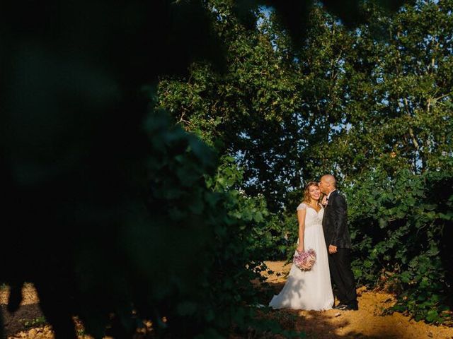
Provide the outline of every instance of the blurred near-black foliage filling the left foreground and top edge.
{"type": "MultiPolygon", "coordinates": [[[[239,16],[250,2],[238,1],[239,16]]],[[[356,21],[338,4],[360,1],[324,2],[356,21]]],[[[258,3],[304,32],[309,1],[258,3]]],[[[227,217],[226,194],[207,188],[215,157],[140,92],[195,59],[222,71],[211,20],[203,1],[2,4],[0,280],[10,311],[23,283],[35,285],[56,338],[76,337],[74,315],[96,338],[106,326],[128,338],[139,319],[178,338],[241,323],[252,258],[231,240],[245,227],[227,217]]]]}

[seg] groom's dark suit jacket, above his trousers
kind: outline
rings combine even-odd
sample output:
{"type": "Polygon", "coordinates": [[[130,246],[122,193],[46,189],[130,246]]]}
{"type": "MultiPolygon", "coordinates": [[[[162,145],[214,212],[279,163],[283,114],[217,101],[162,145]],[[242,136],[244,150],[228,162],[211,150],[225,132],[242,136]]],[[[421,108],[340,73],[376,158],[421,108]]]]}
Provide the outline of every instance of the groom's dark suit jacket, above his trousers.
{"type": "Polygon", "coordinates": [[[345,197],[338,191],[333,191],[328,198],[327,206],[324,209],[323,232],[327,246],[351,248],[348,232],[348,206],[346,206],[345,197]]]}

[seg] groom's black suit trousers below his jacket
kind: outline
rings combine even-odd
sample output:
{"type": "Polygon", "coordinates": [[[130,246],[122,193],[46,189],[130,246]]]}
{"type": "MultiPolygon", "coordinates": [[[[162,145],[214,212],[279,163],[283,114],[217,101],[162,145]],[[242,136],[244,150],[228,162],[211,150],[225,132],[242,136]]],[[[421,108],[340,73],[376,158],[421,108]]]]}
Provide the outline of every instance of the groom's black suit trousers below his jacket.
{"type": "Polygon", "coordinates": [[[337,253],[328,255],[328,268],[331,278],[337,287],[337,298],[340,304],[357,306],[355,278],[351,269],[350,249],[337,248],[337,253]]]}

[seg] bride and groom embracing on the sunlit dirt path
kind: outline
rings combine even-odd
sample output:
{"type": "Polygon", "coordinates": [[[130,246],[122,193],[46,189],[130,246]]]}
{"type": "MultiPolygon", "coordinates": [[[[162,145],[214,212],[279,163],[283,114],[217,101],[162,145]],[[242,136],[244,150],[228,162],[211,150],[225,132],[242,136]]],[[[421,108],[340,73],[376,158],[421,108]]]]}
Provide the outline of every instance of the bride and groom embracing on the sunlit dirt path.
{"type": "MultiPolygon", "coordinates": [[[[314,249],[316,262],[310,270],[292,265],[287,282],[269,306],[274,309],[357,310],[355,280],[350,265],[351,242],[345,198],[336,189],[331,174],[319,183],[309,182],[297,207],[299,239],[297,252],[314,249]],[[321,193],[324,198],[321,201],[321,193]],[[334,306],[332,283],[339,303],[334,306]]],[[[295,252],[295,254],[297,253],[295,252]]]]}

